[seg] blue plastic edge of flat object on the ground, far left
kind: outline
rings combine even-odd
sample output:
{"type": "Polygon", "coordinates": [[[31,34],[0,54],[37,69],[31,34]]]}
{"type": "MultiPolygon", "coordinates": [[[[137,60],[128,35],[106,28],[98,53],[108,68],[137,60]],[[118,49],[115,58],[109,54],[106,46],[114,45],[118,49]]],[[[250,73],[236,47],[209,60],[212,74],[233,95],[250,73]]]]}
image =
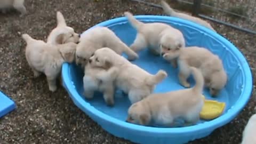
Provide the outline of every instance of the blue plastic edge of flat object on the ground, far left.
{"type": "Polygon", "coordinates": [[[3,109],[0,106],[0,118],[9,114],[11,111],[13,111],[17,107],[15,102],[12,99],[7,97],[7,95],[5,95],[3,92],[0,91],[0,105],[1,105],[1,101],[3,99],[5,102],[7,101],[9,103],[9,105],[7,105],[6,107],[2,107],[3,109]]]}

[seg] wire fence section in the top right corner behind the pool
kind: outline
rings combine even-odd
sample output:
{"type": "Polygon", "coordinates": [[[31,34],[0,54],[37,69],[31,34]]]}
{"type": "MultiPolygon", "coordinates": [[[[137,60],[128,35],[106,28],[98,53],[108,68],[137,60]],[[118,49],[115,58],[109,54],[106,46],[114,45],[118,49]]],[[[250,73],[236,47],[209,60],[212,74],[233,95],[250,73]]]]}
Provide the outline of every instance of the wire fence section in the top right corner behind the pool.
{"type": "MultiPolygon", "coordinates": [[[[132,0],[156,7],[146,0],[132,0]]],[[[197,17],[256,34],[256,1],[250,0],[166,0],[177,10],[188,11],[197,17]]]]}

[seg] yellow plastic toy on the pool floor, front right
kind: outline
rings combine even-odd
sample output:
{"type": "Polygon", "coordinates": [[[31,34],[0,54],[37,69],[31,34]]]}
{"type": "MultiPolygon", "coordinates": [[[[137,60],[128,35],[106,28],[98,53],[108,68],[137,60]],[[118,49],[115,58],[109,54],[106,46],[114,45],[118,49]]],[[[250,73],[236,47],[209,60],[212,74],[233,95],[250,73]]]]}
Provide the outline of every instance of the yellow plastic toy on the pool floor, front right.
{"type": "Polygon", "coordinates": [[[201,119],[214,119],[216,117],[219,117],[223,110],[225,109],[226,103],[225,102],[218,102],[215,100],[205,100],[204,95],[202,95],[204,99],[204,106],[202,108],[202,111],[200,113],[201,119]]]}

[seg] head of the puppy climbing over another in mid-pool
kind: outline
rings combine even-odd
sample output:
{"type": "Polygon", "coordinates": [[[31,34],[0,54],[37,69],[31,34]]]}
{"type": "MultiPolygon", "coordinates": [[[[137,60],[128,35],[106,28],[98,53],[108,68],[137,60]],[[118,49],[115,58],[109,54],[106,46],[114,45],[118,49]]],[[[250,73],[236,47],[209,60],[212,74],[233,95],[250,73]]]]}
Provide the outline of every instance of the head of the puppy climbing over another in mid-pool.
{"type": "Polygon", "coordinates": [[[93,67],[109,69],[113,65],[112,58],[116,55],[117,54],[113,50],[108,47],[103,47],[94,52],[94,55],[92,55],[89,62],[93,67]]]}

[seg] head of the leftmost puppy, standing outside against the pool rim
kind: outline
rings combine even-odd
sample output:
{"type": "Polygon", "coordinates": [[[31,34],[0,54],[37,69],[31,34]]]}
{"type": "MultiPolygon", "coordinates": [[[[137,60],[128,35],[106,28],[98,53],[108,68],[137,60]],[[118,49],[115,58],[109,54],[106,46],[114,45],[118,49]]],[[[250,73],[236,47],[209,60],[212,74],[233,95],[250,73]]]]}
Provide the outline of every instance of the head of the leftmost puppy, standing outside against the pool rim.
{"type": "Polygon", "coordinates": [[[75,43],[66,43],[58,45],[59,51],[66,62],[72,63],[75,60],[75,52],[76,52],[75,43]]]}

